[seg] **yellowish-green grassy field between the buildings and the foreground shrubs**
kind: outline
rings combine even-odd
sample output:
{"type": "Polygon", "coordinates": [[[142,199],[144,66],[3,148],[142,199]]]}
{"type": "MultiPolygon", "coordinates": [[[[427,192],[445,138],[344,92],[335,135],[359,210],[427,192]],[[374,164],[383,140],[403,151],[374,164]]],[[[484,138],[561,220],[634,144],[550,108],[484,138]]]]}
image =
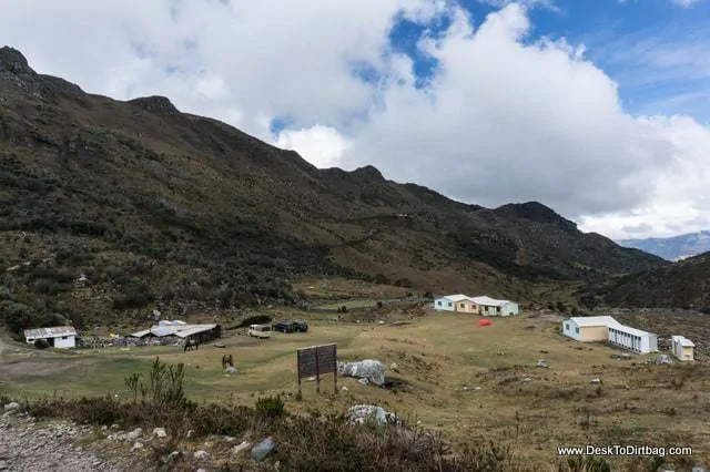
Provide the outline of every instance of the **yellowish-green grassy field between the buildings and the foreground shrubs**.
{"type": "MultiPolygon", "coordinates": [[[[479,327],[471,316],[429,314],[408,325],[312,321],[308,334],[275,334],[270,340],[232,336],[183,352],[178,347],[110,348],[75,352],[6,349],[0,394],[12,397],[128,397],[124,376],[148,372],[155,356],[184,362],[193,399],[253,404],[262,394],[284,394],[291,411],[344,409],[372,402],[442,431],[458,445],[510,444],[530,463],[557,461],[559,445],[647,444],[692,447],[686,464],[710,461],[710,377],[704,363],[647,365],[642,356],[612,359],[602,345],[562,338],[559,322],[523,315],[479,327]],[[332,376],[304,381],[297,391],[296,349],[336,342],[339,360],[379,359],[398,365],[388,374],[408,383],[397,390],[332,376]],[[225,377],[221,357],[232,353],[240,372],[225,377]],[[549,368],[537,368],[546,359],[549,368]],[[602,383],[591,384],[592,378],[602,383]]],[[[682,470],[682,469],[677,469],[682,470]]]]}

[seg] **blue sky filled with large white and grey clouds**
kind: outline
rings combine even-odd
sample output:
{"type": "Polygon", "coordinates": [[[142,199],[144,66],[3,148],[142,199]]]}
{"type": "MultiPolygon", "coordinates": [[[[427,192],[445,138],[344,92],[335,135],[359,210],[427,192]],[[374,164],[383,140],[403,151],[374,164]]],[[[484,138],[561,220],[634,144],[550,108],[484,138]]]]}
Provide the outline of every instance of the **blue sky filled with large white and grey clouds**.
{"type": "Polygon", "coordinates": [[[710,229],[710,0],[0,0],[0,45],[318,167],[615,239],[710,229]]]}

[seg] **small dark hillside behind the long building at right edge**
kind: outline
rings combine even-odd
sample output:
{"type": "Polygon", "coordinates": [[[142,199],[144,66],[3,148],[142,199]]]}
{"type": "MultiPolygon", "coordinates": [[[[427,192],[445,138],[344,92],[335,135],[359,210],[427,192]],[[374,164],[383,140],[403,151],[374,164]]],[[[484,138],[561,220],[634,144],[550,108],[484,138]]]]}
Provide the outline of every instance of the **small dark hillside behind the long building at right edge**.
{"type": "Polygon", "coordinates": [[[594,284],[578,295],[588,305],[710,310],[710,253],[594,284]]]}

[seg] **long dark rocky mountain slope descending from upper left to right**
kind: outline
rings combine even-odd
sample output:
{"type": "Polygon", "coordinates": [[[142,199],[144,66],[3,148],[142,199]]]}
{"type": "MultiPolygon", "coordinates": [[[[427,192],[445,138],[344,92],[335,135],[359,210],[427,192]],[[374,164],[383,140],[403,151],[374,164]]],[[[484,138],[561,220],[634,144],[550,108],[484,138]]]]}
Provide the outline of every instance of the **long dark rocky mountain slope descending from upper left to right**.
{"type": "Polygon", "coordinates": [[[88,94],[0,49],[0,308],[18,324],[296,302],[288,281],[306,275],[525,300],[662,264],[537,203],[487,209],[372,166],[317,170],[165,98],[88,94]]]}

